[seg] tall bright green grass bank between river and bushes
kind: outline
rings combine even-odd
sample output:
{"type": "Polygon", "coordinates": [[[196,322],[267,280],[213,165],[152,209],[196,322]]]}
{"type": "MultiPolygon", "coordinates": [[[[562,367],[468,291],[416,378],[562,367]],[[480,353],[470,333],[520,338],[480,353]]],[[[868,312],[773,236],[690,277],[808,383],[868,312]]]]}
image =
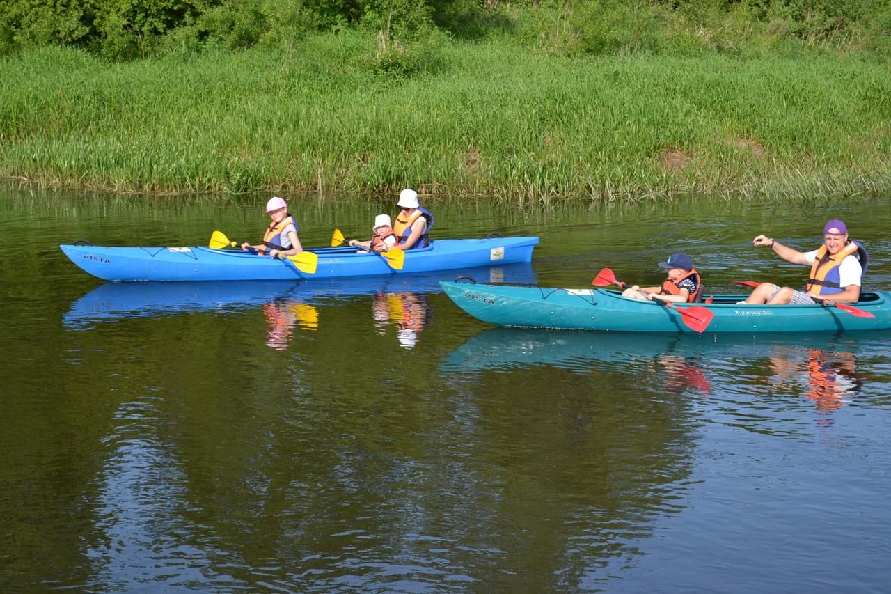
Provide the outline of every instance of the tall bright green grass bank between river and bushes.
{"type": "Polygon", "coordinates": [[[566,55],[446,36],[381,53],[386,43],[349,30],[135,62],[59,46],[8,55],[0,177],[523,202],[891,192],[880,54],[566,55]]]}

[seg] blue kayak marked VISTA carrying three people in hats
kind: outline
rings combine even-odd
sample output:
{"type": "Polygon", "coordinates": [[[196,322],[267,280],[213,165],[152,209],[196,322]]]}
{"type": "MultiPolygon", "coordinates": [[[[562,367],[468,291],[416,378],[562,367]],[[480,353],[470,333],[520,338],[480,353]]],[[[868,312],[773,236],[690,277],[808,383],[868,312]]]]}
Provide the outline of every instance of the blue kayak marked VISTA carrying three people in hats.
{"type": "Polygon", "coordinates": [[[475,268],[532,260],[538,237],[437,239],[428,247],[405,252],[401,270],[379,254],[356,248],[307,250],[318,256],[315,273],[290,260],[241,250],[208,247],[107,247],[61,245],[61,251],[89,274],[110,281],[241,281],[404,275],[475,268]]]}

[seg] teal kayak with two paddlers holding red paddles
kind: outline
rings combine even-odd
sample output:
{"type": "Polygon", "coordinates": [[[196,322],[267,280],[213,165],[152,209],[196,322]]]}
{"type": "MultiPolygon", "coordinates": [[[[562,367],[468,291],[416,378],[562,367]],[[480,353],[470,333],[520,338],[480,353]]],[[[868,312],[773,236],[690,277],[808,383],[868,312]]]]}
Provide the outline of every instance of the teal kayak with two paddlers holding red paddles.
{"type": "Polygon", "coordinates": [[[600,332],[696,333],[685,313],[708,314],[706,333],[838,332],[891,328],[891,293],[863,293],[854,315],[846,309],[813,305],[739,305],[746,295],[713,295],[711,303],[675,304],[622,297],[609,289],[567,289],[528,285],[440,283],[454,303],[495,326],[594,330],[600,332]],[[688,309],[689,308],[689,309],[688,309]],[[685,309],[684,312],[681,310],[685,309]]]}

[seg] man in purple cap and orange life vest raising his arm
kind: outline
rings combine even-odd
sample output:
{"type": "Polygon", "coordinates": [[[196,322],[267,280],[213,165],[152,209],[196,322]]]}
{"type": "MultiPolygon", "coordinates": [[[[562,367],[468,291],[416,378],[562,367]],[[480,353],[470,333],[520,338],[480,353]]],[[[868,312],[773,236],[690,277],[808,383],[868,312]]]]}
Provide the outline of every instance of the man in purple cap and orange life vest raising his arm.
{"type": "Polygon", "coordinates": [[[766,235],[758,235],[752,245],[768,245],[783,260],[810,266],[811,274],[804,291],[762,283],[740,303],[806,304],[813,303],[814,298],[816,301],[856,303],[860,299],[862,276],[870,256],[861,243],[848,239],[847,227],[842,221],[832,219],[826,223],[823,244],[813,252],[798,252],[766,235]]]}

